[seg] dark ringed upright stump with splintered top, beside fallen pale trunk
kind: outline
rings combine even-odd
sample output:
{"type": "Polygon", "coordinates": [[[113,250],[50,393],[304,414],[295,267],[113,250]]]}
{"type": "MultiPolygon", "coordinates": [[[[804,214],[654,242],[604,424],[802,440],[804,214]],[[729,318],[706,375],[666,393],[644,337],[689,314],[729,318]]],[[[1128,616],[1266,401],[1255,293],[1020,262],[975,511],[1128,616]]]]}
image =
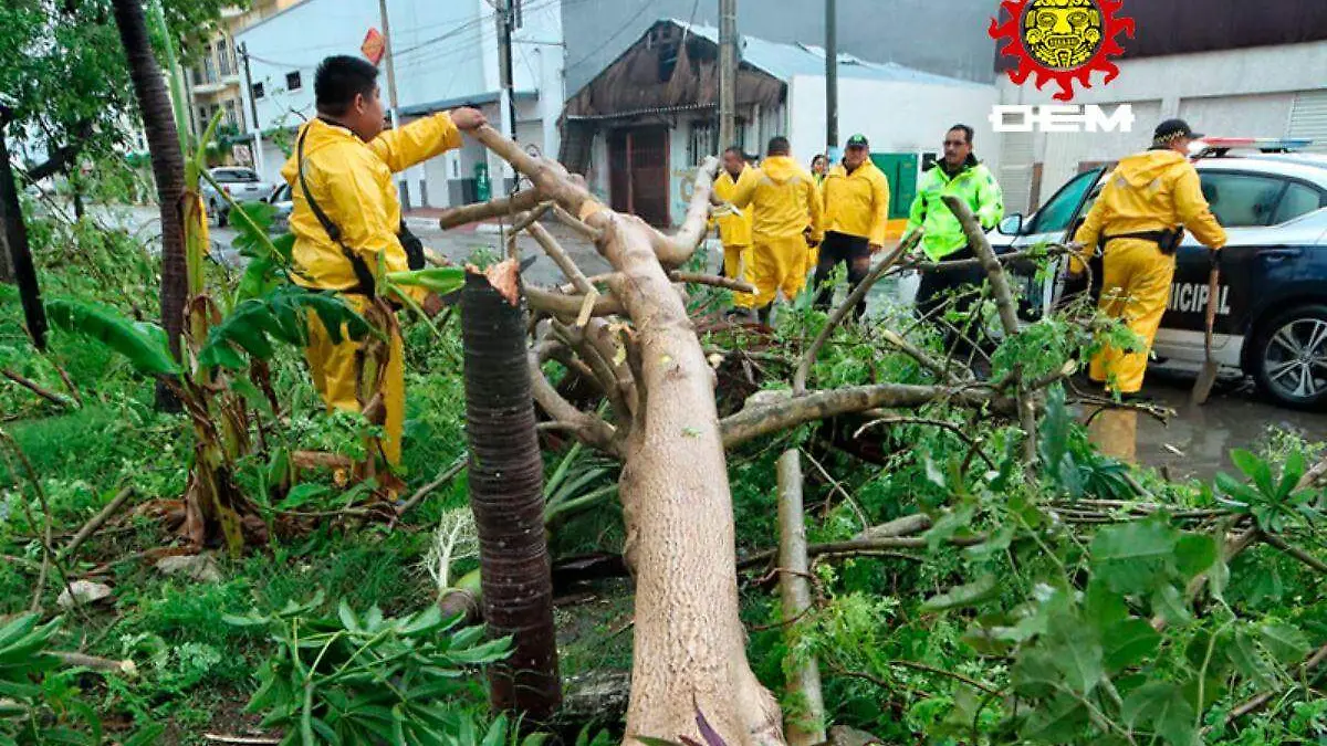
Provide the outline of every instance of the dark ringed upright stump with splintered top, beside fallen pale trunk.
{"type": "MultiPolygon", "coordinates": [[[[491,269],[515,287],[514,261],[491,269]]],[[[535,433],[525,315],[480,273],[460,295],[466,353],[470,506],[479,531],[484,619],[511,634],[510,658],[488,669],[498,710],[547,721],[561,700],[552,563],[544,536],[544,462],[535,433]]]]}

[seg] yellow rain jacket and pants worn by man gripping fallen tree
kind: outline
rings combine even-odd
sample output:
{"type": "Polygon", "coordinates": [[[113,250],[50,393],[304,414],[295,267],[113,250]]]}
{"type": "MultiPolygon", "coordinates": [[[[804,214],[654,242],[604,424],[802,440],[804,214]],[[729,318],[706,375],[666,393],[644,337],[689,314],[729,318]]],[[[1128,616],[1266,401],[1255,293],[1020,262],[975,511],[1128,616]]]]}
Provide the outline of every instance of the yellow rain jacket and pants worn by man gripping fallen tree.
{"type": "MultiPolygon", "coordinates": [[[[409,269],[406,252],[397,231],[401,230],[401,199],[391,183],[391,174],[403,171],[449,149],[460,147],[460,131],[451,117],[441,113],[411,122],[398,130],[385,131],[373,142],[364,142],[350,130],[312,119],[300,129],[304,137],[304,178],[318,207],[340,228],[341,243],[358,252],[370,272],[378,271],[378,256],[385,256],[389,272],[409,269]]],[[[313,215],[300,186],[297,157],[281,169],[291,185],[295,210],[291,232],[295,234],[295,281],[324,291],[353,289],[358,280],[350,260],[332,240],[313,215]]],[[[414,291],[411,291],[414,295],[414,291]]],[[[422,300],[423,292],[417,296],[422,300]]],[[[356,311],[364,311],[368,299],[348,295],[356,311]]],[[[346,338],[333,344],[316,317],[309,317],[309,346],[304,350],[313,374],[313,384],[328,409],[360,411],[360,366],[356,353],[360,342],[346,338]]],[[[382,394],[386,409],[382,455],[390,465],[401,462],[401,431],[405,422],[405,370],[399,335],[393,335],[382,394]]]]}

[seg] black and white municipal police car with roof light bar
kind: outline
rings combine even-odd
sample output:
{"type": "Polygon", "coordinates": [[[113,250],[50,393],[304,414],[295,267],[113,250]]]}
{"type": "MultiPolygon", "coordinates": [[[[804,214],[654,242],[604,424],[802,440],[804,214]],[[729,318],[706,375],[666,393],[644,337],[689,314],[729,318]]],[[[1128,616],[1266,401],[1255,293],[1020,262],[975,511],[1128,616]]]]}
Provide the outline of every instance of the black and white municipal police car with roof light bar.
{"type": "MultiPolygon", "coordinates": [[[[1230,243],[1221,252],[1213,354],[1251,376],[1278,402],[1327,406],[1327,155],[1295,153],[1307,141],[1205,138],[1194,166],[1230,243]],[[1231,151],[1253,153],[1235,155],[1231,151]]],[[[1085,218],[1109,167],[1070,179],[1028,218],[991,232],[997,251],[1064,242],[1085,218]]],[[[1186,236],[1176,255],[1170,303],[1157,333],[1158,362],[1201,364],[1208,250],[1186,236]]],[[[1054,273],[1052,273],[1054,275],[1054,273]]],[[[1093,275],[1099,279],[1100,269],[1093,275]]],[[[1024,277],[1026,319],[1063,288],[1024,277]]]]}

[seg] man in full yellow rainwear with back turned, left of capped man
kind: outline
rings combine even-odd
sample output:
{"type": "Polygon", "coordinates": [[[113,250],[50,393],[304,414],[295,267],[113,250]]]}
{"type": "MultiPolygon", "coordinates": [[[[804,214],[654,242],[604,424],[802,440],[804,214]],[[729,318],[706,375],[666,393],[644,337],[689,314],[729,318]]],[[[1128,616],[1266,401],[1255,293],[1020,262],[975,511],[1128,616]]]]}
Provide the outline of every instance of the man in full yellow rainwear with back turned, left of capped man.
{"type": "Polygon", "coordinates": [[[791,151],[788,138],[772,138],[755,178],[739,182],[730,200],[739,210],[750,207],[754,212],[755,307],[766,323],[779,291],[791,301],[805,287],[807,254],[824,236],[820,190],[815,178],[790,157],[791,151]]]}

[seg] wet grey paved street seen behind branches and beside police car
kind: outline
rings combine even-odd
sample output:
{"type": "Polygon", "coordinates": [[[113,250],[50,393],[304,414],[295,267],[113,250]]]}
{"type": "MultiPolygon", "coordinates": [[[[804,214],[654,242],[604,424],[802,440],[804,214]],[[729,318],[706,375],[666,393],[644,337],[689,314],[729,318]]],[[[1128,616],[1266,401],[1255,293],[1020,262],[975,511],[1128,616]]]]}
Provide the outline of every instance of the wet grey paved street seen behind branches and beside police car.
{"type": "MultiPolygon", "coordinates": [[[[131,230],[143,231],[146,238],[155,228],[155,208],[117,208],[96,211],[100,219],[131,230]]],[[[453,261],[464,261],[478,250],[499,250],[499,236],[491,232],[442,232],[430,220],[411,219],[411,230],[435,251],[453,261]]],[[[588,275],[608,269],[608,264],[584,242],[569,236],[560,226],[549,226],[552,232],[563,239],[563,246],[573,255],[588,275]]],[[[218,255],[224,261],[238,261],[240,258],[230,247],[235,231],[214,228],[212,240],[218,244],[218,255]]],[[[539,285],[553,285],[565,281],[557,267],[548,260],[533,240],[522,236],[523,256],[537,256],[536,263],[525,271],[525,280],[539,285]]],[[[718,256],[711,252],[711,265],[718,265],[718,256]]],[[[886,301],[897,295],[900,288],[881,283],[872,293],[873,301],[886,301]]],[[[1148,374],[1144,394],[1158,404],[1178,411],[1170,423],[1162,425],[1143,417],[1139,422],[1137,455],[1140,462],[1164,469],[1173,479],[1198,478],[1210,481],[1217,471],[1234,473],[1230,465],[1233,449],[1255,447],[1267,438],[1273,429],[1298,433],[1311,442],[1327,442],[1327,417],[1320,413],[1292,411],[1265,401],[1246,381],[1225,380],[1206,406],[1188,405],[1189,389],[1193,385],[1193,372],[1158,368],[1148,374]]]]}

